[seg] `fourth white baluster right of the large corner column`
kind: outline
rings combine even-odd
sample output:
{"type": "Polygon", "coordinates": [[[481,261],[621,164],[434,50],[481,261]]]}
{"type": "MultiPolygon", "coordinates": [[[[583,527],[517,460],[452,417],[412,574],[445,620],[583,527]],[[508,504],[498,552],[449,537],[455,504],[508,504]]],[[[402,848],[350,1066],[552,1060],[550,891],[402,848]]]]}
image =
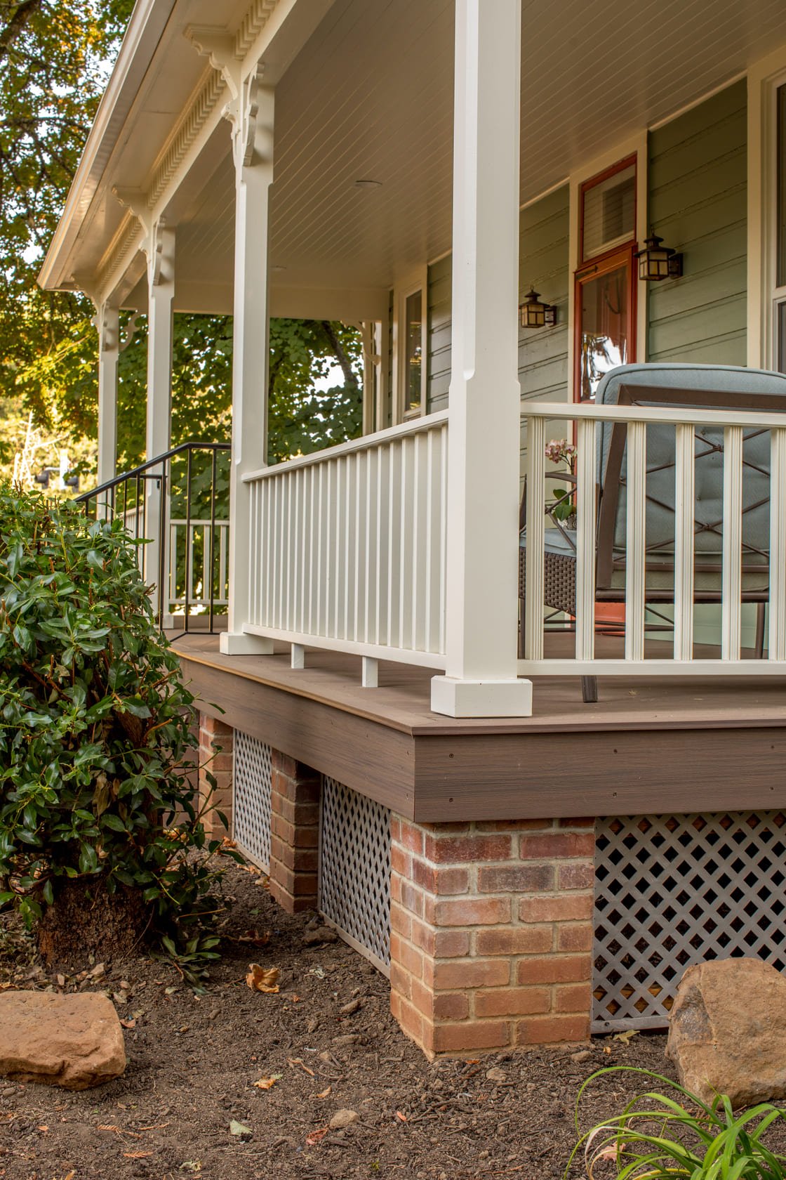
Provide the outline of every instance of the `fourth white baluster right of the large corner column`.
{"type": "Polygon", "coordinates": [[[675,428],[674,464],[674,658],[693,658],[695,531],[695,438],[692,424],[675,428]]]}

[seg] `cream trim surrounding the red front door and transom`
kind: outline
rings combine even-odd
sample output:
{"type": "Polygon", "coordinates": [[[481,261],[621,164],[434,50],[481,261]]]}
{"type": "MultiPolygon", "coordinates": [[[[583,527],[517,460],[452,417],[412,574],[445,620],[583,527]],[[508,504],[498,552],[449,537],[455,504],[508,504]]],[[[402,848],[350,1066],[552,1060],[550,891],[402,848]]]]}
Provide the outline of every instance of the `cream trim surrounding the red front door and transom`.
{"type": "MultiPolygon", "coordinates": [[[[647,224],[647,130],[638,132],[629,139],[625,139],[622,143],[616,144],[609,151],[605,151],[602,156],[596,156],[594,159],[587,160],[581,168],[576,169],[570,173],[570,231],[568,238],[568,267],[569,267],[569,282],[568,282],[568,386],[566,391],[566,398],[568,401],[573,399],[573,375],[575,372],[575,347],[576,347],[576,335],[575,335],[575,275],[579,270],[579,224],[581,217],[581,185],[584,181],[590,181],[593,176],[597,176],[599,172],[606,171],[620,159],[625,159],[626,156],[636,157],[636,240],[641,244],[647,236],[648,224],[647,224]]],[[[639,280],[636,278],[636,282],[639,280]]],[[[636,360],[647,360],[647,283],[639,282],[639,288],[636,291],[636,360]]]]}

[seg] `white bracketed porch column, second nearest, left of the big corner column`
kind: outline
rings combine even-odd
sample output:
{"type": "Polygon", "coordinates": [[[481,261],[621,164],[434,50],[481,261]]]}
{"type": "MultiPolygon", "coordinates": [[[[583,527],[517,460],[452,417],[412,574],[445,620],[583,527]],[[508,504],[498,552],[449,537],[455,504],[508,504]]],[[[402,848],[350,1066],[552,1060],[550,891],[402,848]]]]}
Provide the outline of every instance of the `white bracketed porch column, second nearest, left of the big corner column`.
{"type": "Polygon", "coordinates": [[[246,635],[251,584],[251,496],[243,476],[267,463],[267,222],[273,178],[273,91],[260,85],[262,67],[237,86],[230,107],[235,153],[235,308],[232,365],[232,466],[230,476],[227,655],[267,655],[272,641],[246,635]]]}

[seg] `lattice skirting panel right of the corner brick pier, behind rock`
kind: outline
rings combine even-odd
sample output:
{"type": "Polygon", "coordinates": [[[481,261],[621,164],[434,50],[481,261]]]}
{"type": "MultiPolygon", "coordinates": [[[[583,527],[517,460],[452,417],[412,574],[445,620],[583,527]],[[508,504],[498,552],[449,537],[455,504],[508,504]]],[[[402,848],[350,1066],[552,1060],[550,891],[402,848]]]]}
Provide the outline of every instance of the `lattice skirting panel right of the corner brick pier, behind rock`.
{"type": "Polygon", "coordinates": [[[597,821],[593,1030],[661,1028],[692,963],[786,968],[781,812],[597,821]]]}

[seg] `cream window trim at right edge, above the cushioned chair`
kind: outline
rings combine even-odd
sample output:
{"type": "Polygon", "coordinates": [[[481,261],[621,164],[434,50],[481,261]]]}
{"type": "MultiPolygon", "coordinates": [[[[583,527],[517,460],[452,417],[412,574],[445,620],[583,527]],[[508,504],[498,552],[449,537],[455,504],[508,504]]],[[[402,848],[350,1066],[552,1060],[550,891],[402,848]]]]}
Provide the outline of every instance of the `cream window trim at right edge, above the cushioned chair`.
{"type": "Polygon", "coordinates": [[[778,110],[777,91],[786,85],[786,46],[748,71],[748,319],[747,362],[775,368],[775,316],[786,287],[778,273],[778,110]]]}

